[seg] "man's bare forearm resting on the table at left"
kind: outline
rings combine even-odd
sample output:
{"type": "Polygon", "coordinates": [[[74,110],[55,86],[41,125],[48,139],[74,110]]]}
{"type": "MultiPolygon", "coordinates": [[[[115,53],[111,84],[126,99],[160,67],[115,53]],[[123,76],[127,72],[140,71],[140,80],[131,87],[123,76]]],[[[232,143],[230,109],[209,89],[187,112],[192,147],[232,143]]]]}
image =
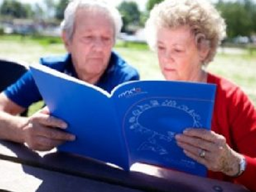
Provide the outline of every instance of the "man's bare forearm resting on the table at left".
{"type": "Polygon", "coordinates": [[[0,139],[24,143],[23,128],[26,124],[28,118],[0,111],[0,139]]]}

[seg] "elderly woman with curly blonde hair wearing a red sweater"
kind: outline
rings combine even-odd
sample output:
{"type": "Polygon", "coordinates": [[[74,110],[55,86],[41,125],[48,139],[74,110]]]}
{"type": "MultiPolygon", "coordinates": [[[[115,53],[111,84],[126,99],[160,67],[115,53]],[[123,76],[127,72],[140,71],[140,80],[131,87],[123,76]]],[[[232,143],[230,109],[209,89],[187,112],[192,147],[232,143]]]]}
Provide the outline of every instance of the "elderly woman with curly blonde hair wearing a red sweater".
{"type": "Polygon", "coordinates": [[[211,131],[189,128],[176,141],[208,176],[256,191],[256,110],[246,94],[228,80],[207,72],[226,25],[204,0],[165,0],[146,22],[148,44],[156,50],[166,80],[217,85],[211,131]]]}

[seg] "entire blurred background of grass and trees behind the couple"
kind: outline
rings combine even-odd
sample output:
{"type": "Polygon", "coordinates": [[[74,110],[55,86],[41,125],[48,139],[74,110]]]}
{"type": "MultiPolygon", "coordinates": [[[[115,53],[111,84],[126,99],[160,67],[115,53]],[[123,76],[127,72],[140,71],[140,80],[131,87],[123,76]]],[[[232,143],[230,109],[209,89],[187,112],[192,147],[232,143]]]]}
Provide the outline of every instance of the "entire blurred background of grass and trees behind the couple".
{"type": "MultiPolygon", "coordinates": [[[[124,26],[114,50],[141,73],[162,79],[156,55],[145,42],[144,22],[162,0],[108,0],[122,14],[124,26]]],[[[38,62],[63,54],[60,22],[68,0],[0,0],[0,57],[38,62]]],[[[227,23],[222,42],[208,70],[220,74],[249,95],[256,105],[256,0],[211,0],[227,23]]]]}

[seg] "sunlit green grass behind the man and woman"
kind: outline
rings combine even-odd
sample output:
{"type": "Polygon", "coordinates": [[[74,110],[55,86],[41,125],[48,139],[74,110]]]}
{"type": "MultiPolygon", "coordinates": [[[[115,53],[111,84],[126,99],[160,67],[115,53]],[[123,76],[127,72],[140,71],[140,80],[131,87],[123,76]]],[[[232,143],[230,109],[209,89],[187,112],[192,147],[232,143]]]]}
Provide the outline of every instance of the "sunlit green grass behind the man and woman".
{"type": "MultiPolygon", "coordinates": [[[[125,44],[118,41],[114,50],[139,70],[141,79],[164,79],[158,68],[156,54],[148,50],[145,44],[125,44]]],[[[35,63],[42,56],[64,53],[64,46],[59,38],[0,36],[0,57],[35,63]]],[[[219,53],[208,70],[241,86],[256,105],[255,51],[245,50],[242,54],[219,53]]],[[[33,106],[30,114],[41,105],[42,103],[33,106]]]]}

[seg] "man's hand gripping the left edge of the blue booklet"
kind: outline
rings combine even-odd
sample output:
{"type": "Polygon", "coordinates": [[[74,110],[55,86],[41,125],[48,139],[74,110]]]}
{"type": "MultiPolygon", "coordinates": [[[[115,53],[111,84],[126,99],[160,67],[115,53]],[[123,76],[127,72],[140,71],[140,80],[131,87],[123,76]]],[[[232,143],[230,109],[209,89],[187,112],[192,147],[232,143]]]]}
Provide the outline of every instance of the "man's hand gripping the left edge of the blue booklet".
{"type": "Polygon", "coordinates": [[[66,142],[75,140],[75,136],[62,131],[67,124],[50,116],[48,108],[33,114],[23,128],[24,141],[33,150],[51,150],[66,142]]]}

